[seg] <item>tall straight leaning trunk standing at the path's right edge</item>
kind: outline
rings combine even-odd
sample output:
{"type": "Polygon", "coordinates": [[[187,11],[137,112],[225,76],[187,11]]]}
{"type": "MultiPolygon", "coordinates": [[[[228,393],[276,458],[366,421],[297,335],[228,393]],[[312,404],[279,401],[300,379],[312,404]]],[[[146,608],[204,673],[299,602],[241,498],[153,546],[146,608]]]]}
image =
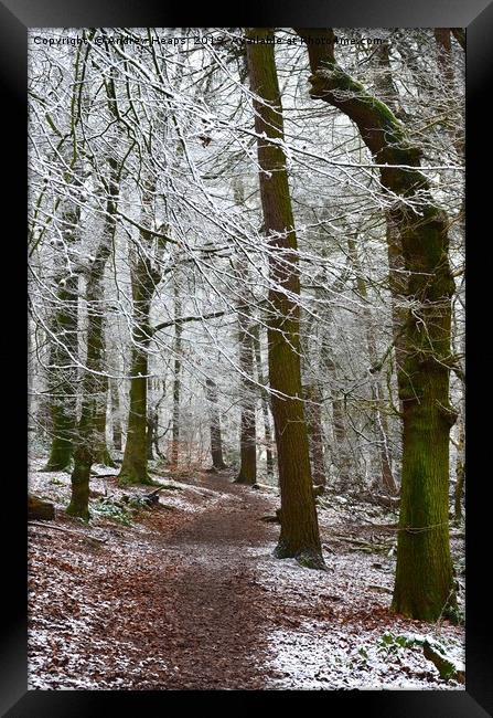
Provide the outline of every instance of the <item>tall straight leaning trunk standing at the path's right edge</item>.
{"type": "MultiPolygon", "coordinates": [[[[262,28],[247,30],[247,38],[256,35],[271,39],[272,32],[262,28]]],[[[254,109],[260,197],[270,241],[269,382],[282,517],[276,556],[324,568],[301,392],[298,246],[286,155],[280,144],[283,122],[274,46],[247,42],[247,61],[251,91],[258,97],[254,109]]]]}

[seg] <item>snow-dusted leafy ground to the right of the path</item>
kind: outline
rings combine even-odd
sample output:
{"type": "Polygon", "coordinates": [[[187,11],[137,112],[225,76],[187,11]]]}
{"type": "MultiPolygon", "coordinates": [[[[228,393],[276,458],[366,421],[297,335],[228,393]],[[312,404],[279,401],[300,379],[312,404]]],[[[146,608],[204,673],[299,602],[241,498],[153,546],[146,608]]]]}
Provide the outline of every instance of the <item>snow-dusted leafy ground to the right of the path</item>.
{"type": "MultiPolygon", "coordinates": [[[[375,507],[346,507],[346,501],[336,499],[324,497],[320,501],[324,508],[319,509],[322,542],[330,549],[324,552],[326,572],[301,568],[292,559],[279,561],[262,549],[249,551],[257,558],[257,579],[279,603],[286,624],[269,634],[269,664],[275,676],[269,687],[463,689],[461,683],[440,678],[421,645],[401,645],[401,637],[417,642],[428,637],[463,671],[463,627],[446,620],[429,625],[392,614],[393,546],[388,552],[360,552],[351,542],[334,538],[345,535],[352,541],[360,529],[365,543],[371,543],[375,538],[372,527],[393,522],[396,516],[375,507]]],[[[381,541],[375,539],[376,546],[381,541]]],[[[390,545],[394,542],[390,538],[390,545]]],[[[454,549],[457,553],[457,541],[454,549]]],[[[462,592],[459,599],[463,606],[462,592]]]]}

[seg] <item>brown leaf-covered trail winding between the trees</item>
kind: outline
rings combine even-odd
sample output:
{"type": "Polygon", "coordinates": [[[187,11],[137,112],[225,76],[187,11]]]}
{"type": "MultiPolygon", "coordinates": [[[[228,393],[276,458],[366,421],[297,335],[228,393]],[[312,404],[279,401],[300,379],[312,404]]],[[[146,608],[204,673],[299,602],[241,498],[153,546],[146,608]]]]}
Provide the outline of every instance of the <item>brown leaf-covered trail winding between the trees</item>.
{"type": "Polygon", "coordinates": [[[173,595],[172,631],[163,625],[161,633],[162,657],[172,671],[162,687],[261,688],[266,611],[249,549],[271,550],[276,531],[259,520],[271,501],[233,484],[226,472],[201,474],[199,485],[219,497],[163,538],[163,550],[174,553],[181,570],[171,582],[165,568],[162,574],[163,606],[170,591],[173,595]]]}

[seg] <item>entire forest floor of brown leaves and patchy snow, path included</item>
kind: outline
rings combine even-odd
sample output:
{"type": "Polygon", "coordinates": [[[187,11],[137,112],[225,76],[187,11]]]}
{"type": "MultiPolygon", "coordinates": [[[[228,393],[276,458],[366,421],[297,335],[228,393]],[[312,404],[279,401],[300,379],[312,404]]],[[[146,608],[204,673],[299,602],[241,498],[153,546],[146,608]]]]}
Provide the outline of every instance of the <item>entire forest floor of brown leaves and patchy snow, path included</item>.
{"type": "Polygon", "coordinates": [[[321,497],[328,571],[313,571],[272,557],[279,527],[261,519],[276,489],[195,472],[163,477],[159,505],[144,508],[149,487],[95,477],[87,525],[63,511],[68,474],[42,463],[30,490],[57,510],[29,528],[30,689],[464,687],[419,645],[460,664],[463,627],[389,611],[395,532],[382,524],[395,515],[321,497]]]}

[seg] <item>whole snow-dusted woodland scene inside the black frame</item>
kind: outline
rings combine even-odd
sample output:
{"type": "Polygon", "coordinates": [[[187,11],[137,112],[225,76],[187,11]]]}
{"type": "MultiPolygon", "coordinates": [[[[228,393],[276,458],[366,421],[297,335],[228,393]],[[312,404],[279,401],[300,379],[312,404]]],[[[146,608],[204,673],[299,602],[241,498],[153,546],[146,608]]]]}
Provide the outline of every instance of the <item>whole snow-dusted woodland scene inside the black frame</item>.
{"type": "Polygon", "coordinates": [[[464,62],[30,30],[30,688],[463,688],[464,62]]]}

